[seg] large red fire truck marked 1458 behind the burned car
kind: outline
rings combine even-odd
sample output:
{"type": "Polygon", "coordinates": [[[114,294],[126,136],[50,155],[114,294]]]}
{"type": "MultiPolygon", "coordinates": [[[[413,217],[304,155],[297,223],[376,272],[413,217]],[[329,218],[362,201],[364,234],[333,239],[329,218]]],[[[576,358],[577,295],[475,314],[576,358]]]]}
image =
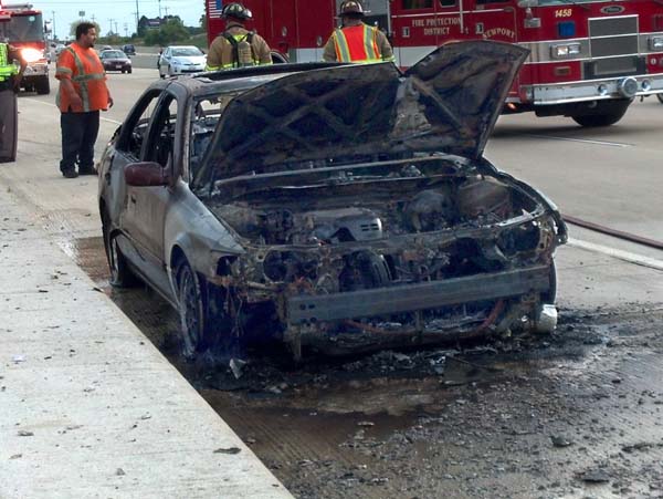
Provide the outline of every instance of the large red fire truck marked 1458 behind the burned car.
{"type": "MultiPolygon", "coordinates": [[[[230,1],[230,0],[227,0],[230,1]]],[[[206,0],[208,37],[223,30],[221,0],[206,0]]],[[[274,61],[320,61],[340,0],[244,0],[274,61]]],[[[505,113],[564,115],[582,126],[617,123],[636,96],[663,102],[661,0],[365,0],[365,22],[391,40],[408,67],[456,40],[530,50],[505,113]]]]}

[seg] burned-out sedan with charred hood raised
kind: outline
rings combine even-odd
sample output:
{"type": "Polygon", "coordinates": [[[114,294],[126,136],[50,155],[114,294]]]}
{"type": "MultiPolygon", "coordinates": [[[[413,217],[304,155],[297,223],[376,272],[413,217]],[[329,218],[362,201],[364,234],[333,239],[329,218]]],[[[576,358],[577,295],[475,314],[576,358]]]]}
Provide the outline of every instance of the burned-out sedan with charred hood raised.
{"type": "Polygon", "coordinates": [[[182,353],[551,328],[557,208],[482,153],[527,52],[277,64],[155,82],[102,158],[115,285],[179,311],[182,353]]]}

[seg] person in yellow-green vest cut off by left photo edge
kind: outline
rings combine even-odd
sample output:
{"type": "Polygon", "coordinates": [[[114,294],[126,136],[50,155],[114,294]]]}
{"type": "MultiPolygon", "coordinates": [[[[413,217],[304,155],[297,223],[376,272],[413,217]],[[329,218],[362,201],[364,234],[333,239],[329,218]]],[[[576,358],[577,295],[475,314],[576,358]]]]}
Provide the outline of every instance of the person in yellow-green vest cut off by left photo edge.
{"type": "Polygon", "coordinates": [[[0,163],[17,160],[19,108],[17,93],[28,64],[21,52],[0,41],[0,163]],[[13,61],[18,61],[18,67],[13,61]]]}

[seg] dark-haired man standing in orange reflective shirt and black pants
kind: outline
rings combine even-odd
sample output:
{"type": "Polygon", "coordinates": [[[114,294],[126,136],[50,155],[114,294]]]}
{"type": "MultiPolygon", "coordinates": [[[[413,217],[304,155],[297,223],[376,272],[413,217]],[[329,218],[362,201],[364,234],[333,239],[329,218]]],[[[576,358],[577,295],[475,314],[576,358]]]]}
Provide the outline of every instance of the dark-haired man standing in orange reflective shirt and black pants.
{"type": "Polygon", "coordinates": [[[94,50],[95,40],[95,25],[82,22],[76,27],[76,41],[57,58],[55,77],[60,80],[57,106],[62,129],[60,170],[66,178],[96,175],[94,143],[99,132],[99,111],[113,106],[106,73],[94,50]]]}

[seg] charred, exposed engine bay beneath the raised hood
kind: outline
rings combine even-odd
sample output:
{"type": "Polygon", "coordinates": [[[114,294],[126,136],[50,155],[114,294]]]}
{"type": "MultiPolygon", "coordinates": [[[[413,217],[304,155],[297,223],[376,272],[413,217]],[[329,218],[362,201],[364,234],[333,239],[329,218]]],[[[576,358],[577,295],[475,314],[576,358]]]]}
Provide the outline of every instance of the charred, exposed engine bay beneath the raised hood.
{"type": "MultiPolygon", "coordinates": [[[[552,209],[509,177],[490,173],[451,156],[218,181],[204,202],[246,248],[245,254],[221,259],[220,282],[239,290],[248,303],[276,303],[282,323],[293,321],[292,312],[278,308],[291,297],[407,290],[408,284],[537,266],[545,268],[546,290],[540,291],[547,291],[547,268],[562,241],[552,209]]],[[[324,324],[313,314],[296,319],[309,332],[471,332],[502,312],[504,303],[495,297],[470,295],[421,314],[397,300],[390,314],[364,309],[357,316],[371,319],[361,324],[330,320],[344,319],[338,315],[324,324]]],[[[533,293],[526,301],[508,303],[507,310],[519,309],[512,319],[530,313],[539,297],[533,293]]],[[[516,321],[502,325],[509,326],[516,321]]]]}

